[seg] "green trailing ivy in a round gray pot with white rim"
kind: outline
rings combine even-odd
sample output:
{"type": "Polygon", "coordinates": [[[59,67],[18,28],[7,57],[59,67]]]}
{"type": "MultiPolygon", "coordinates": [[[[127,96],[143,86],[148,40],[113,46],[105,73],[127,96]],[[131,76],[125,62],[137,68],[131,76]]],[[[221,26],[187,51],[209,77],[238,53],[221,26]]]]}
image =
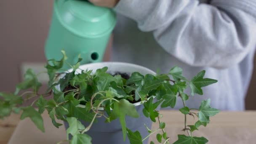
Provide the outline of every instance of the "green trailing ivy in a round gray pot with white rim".
{"type": "Polygon", "coordinates": [[[179,67],[171,68],[168,74],[156,74],[138,65],[118,62],[80,66],[81,58],[66,70],[61,69],[67,59],[65,52],[62,53],[61,60],[51,59],[45,65],[49,75],[45,93],[39,93],[41,84],[31,69],[14,93],[0,93],[0,118],[12,112],[21,113],[21,120],[29,117],[44,132],[41,114],[47,111],[56,128],[62,125],[56,119],[64,121],[67,130],[64,141],[70,144],[147,144],[153,133],[157,133],[157,141],[169,144],[159,109],[174,108],[176,99],[182,99],[184,107],[179,110],[185,117],[183,131],[188,134],[178,135],[174,144],[208,142],[204,137],[192,136],[192,132],[200,125],[206,126],[209,117],[219,110],[210,107],[210,99],[202,101],[196,111],[185,104],[189,95],[203,95],[202,87],[217,82],[204,78],[205,71],[187,80],[179,67]],[[187,87],[191,88],[189,95],[184,93],[187,87]],[[52,94],[53,98],[47,100],[52,94]],[[30,106],[22,105],[30,99],[35,99],[30,106]],[[188,115],[198,117],[198,121],[187,125],[188,115]],[[151,130],[152,122],[159,123],[159,128],[151,130]]]}

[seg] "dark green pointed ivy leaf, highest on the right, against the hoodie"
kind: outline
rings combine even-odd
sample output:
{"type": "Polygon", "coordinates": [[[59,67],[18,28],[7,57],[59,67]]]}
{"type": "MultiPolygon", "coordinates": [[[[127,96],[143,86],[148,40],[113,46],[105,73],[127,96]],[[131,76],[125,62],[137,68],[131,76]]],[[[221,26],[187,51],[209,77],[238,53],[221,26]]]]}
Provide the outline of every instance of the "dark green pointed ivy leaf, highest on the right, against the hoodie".
{"type": "Polygon", "coordinates": [[[199,72],[195,77],[192,78],[192,80],[189,83],[189,86],[191,88],[191,95],[194,96],[195,93],[203,95],[202,87],[205,87],[207,85],[211,85],[213,83],[217,83],[217,80],[209,79],[209,78],[203,78],[205,75],[205,70],[199,72]]]}

